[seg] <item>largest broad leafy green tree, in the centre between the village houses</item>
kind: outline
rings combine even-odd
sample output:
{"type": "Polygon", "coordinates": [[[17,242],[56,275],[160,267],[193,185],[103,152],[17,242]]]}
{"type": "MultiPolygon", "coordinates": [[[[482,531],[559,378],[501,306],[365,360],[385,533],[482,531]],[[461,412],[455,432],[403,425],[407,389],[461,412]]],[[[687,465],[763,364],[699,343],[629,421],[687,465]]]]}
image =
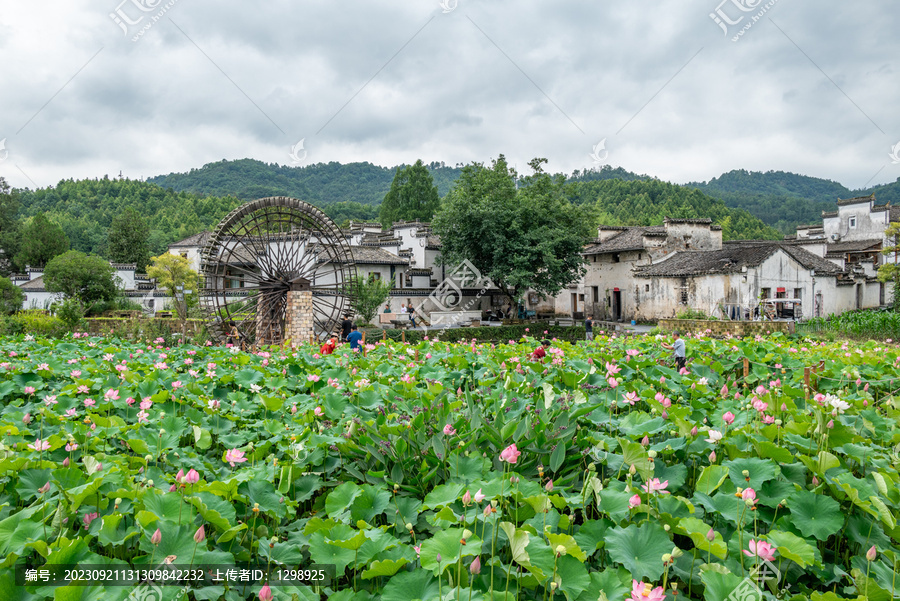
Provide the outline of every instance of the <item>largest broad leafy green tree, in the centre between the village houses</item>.
{"type": "Polygon", "coordinates": [[[592,219],[564,194],[563,179],[543,172],[520,181],[503,155],[490,167],[463,169],[456,188],[435,216],[445,264],[469,260],[513,300],[533,289],[555,295],[584,273],[581,251],[592,219]]]}

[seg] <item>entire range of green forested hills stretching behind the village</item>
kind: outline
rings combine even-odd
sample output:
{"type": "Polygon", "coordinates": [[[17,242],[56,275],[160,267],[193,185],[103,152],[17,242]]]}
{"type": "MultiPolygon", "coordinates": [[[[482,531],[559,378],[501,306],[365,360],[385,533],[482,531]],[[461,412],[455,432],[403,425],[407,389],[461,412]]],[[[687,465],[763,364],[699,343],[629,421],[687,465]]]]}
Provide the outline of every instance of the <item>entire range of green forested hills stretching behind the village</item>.
{"type": "MultiPolygon", "coordinates": [[[[462,165],[431,163],[428,168],[443,197],[462,165]]],[[[63,228],[72,248],[105,255],[113,216],[133,208],[150,224],[150,250],[159,253],[171,242],[214,227],[242,202],[264,196],[306,200],[339,224],[377,221],[397,169],[335,162],[288,167],[242,159],[146,182],[63,180],[49,188],[18,190],[18,218],[43,212],[63,228]]],[[[793,173],[735,170],[679,186],[610,166],[576,171],[565,179],[570,200],[591,208],[597,223],[654,225],[666,216],[710,217],[729,239],[779,238],[798,224],[818,223],[822,211],[834,210],[839,198],[874,193],[879,202],[900,204],[900,179],[852,191],[834,181],[793,173]]]]}

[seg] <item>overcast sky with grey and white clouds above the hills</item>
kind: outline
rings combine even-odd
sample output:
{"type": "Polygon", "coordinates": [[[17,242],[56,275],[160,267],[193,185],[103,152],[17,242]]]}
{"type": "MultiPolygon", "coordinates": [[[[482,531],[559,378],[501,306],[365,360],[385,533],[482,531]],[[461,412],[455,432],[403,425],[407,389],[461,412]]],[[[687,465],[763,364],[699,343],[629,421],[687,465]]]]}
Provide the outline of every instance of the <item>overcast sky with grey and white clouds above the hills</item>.
{"type": "Polygon", "coordinates": [[[390,166],[501,153],[520,171],[546,157],[552,171],[610,164],[677,183],[736,168],[854,189],[900,178],[888,2],[2,7],[0,177],[16,187],[246,157],[390,166]]]}

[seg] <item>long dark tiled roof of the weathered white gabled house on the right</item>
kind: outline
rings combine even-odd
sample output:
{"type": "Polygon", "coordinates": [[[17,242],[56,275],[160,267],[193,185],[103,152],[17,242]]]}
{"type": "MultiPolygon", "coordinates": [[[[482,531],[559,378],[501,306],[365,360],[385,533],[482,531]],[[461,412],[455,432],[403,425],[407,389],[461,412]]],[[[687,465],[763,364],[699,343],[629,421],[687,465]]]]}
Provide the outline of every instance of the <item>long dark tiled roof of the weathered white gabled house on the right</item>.
{"type": "Polygon", "coordinates": [[[687,277],[716,273],[740,273],[743,267],[757,267],[782,250],[805,269],[815,269],[820,275],[839,275],[842,270],[811,252],[792,244],[771,241],[726,244],[721,250],[681,251],[670,258],[638,267],[638,277],[687,277]]]}

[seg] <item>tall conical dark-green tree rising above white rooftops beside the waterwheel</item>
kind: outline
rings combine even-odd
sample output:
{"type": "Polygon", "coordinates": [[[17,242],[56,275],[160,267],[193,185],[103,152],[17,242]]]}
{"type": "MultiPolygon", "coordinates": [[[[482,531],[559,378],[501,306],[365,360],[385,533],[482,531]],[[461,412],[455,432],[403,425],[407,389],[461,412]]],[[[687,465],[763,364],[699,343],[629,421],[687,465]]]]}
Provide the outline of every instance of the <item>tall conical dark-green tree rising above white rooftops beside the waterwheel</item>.
{"type": "Polygon", "coordinates": [[[385,227],[401,220],[431,221],[440,206],[441,198],[431,172],[419,159],[415,165],[397,169],[378,218],[385,227]]]}

